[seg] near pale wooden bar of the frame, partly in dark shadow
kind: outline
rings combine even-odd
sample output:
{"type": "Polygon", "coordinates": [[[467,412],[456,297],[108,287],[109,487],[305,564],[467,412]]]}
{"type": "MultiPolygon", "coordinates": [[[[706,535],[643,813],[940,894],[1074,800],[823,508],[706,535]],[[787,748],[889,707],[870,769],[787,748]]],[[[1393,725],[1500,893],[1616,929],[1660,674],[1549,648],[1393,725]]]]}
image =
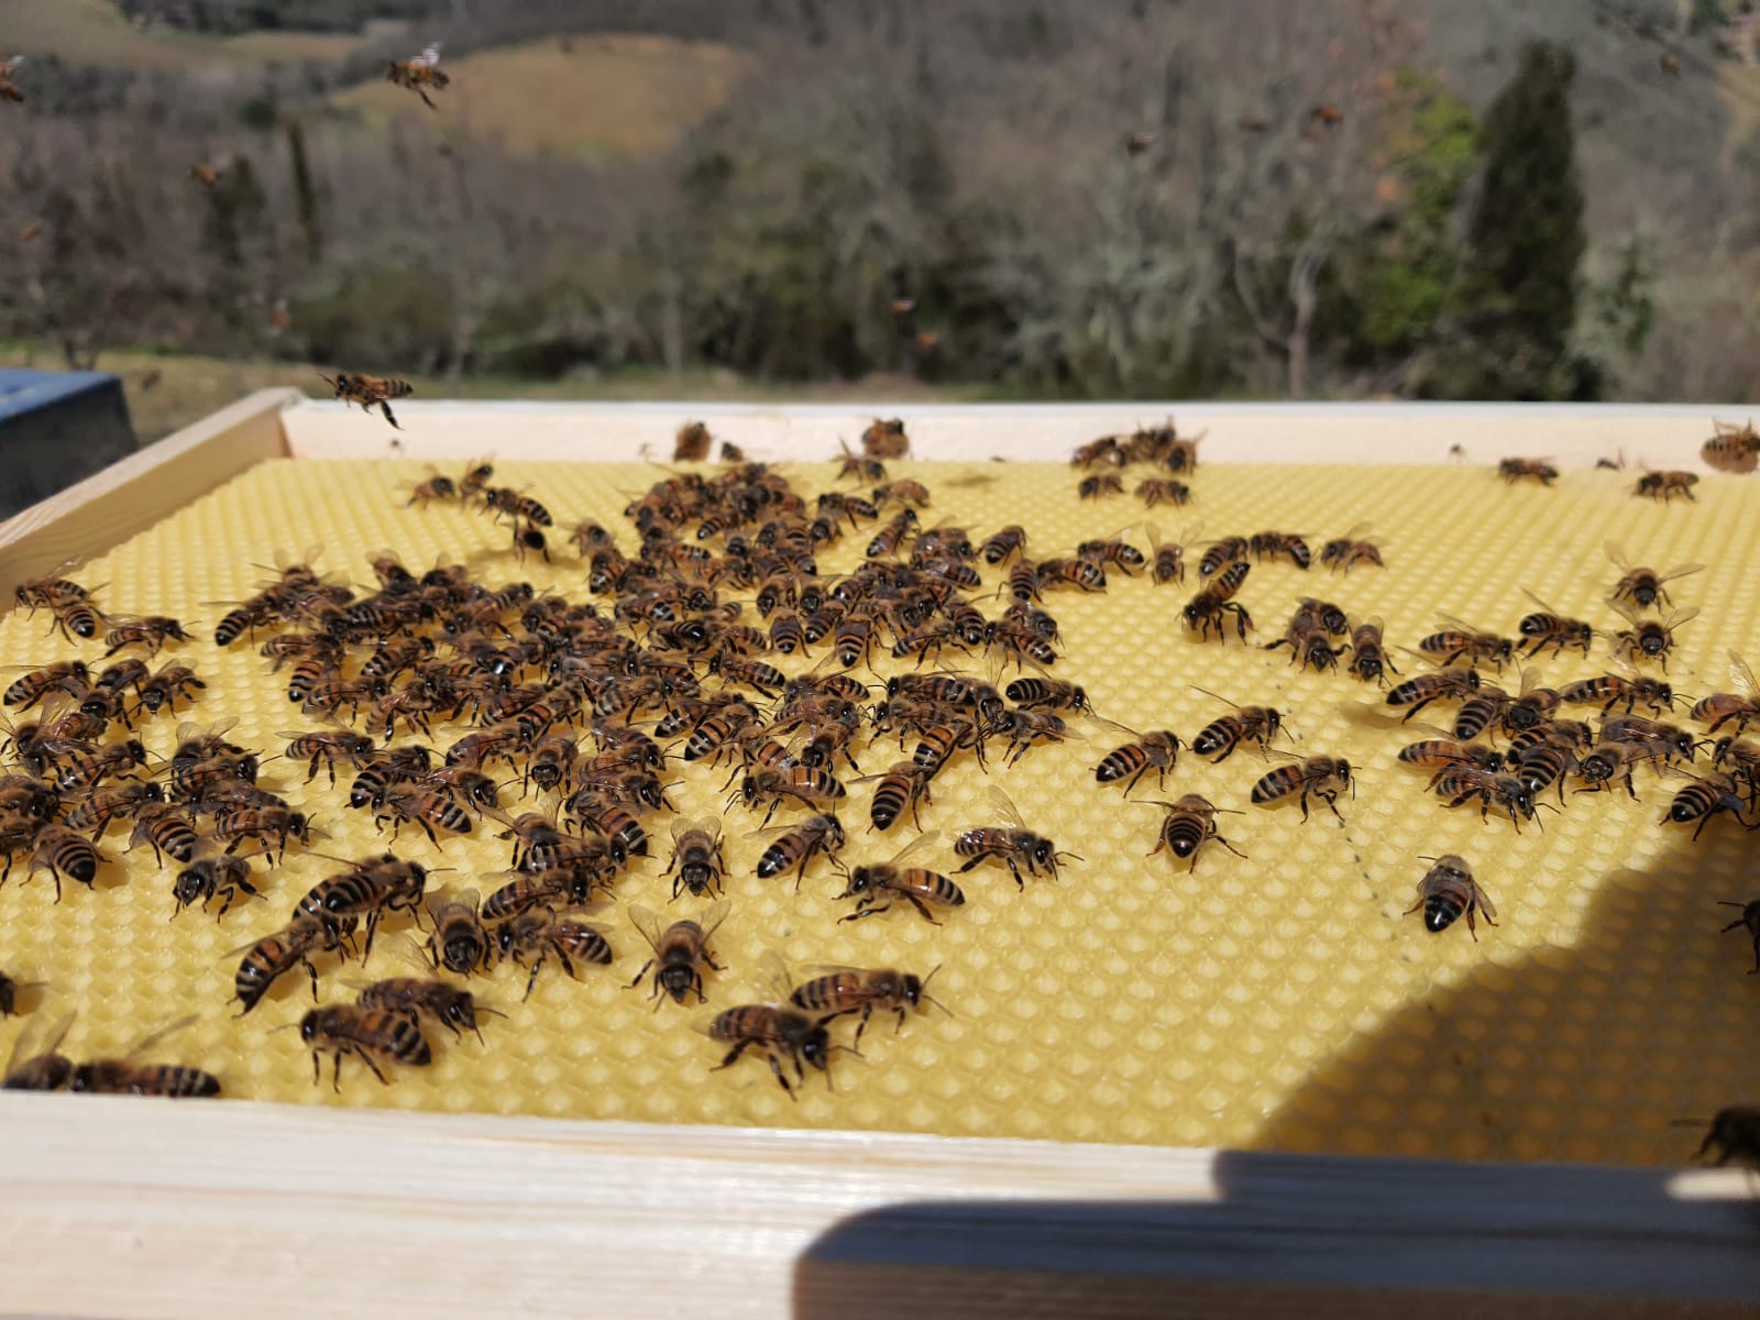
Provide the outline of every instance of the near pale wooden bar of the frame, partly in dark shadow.
{"type": "Polygon", "coordinates": [[[0,1315],[1716,1315],[1741,1172],[0,1096],[0,1315]],[[21,1140],[28,1133],[28,1140],[21,1140]]]}

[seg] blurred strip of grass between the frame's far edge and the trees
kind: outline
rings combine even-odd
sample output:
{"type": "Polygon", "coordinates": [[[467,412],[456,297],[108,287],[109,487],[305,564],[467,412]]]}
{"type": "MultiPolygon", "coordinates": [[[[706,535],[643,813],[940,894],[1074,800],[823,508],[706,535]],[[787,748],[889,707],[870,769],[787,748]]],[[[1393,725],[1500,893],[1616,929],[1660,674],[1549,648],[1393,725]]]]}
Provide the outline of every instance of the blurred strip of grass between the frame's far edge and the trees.
{"type": "MultiPolygon", "coordinates": [[[[48,347],[4,343],[0,366],[32,366],[58,371],[58,352],[48,347]]],[[[181,426],[201,421],[245,394],[275,385],[292,385],[313,398],[327,387],[317,370],[294,363],[253,363],[224,357],[187,357],[150,352],[107,352],[99,371],[121,377],[128,394],[128,414],[143,444],[160,440],[181,426]]],[[[517,380],[510,377],[465,377],[458,382],[412,377],[419,400],[746,400],[834,403],[840,400],[970,401],[980,391],[924,385],[905,377],[869,377],[852,382],[760,384],[727,371],[623,373],[581,380],[517,380]]],[[[336,405],[341,407],[341,405],[336,405]]]]}

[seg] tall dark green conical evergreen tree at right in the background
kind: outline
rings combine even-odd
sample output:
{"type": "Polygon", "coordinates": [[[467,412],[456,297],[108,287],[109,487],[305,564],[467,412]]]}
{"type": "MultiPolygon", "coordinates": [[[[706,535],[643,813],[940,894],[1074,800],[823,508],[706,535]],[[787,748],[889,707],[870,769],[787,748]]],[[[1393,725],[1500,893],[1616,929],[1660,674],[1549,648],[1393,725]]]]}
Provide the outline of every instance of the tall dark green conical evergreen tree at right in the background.
{"type": "Polygon", "coordinates": [[[1484,172],[1452,299],[1457,343],[1426,380],[1445,398],[1554,400],[1598,392],[1573,359],[1588,248],[1570,86],[1575,56],[1533,42],[1485,114],[1484,172]]]}

